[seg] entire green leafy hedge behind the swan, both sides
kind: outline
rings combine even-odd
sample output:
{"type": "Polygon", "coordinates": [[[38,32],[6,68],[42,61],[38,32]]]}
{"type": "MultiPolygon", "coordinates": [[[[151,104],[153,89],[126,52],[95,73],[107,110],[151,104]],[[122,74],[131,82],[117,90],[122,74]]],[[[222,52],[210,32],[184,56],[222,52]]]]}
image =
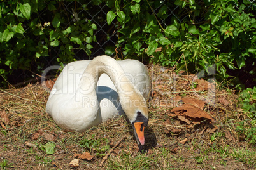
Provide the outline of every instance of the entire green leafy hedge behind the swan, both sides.
{"type": "MultiPolygon", "coordinates": [[[[71,7],[73,15],[67,13],[64,6],[70,2],[11,0],[0,3],[2,77],[16,69],[40,72],[44,67],[43,58],[51,60],[55,55],[52,48],[60,50],[57,58],[60,64],[74,60],[74,49],[83,49],[90,56],[92,42],[97,39],[94,36],[97,27],[87,20],[85,13],[77,16],[80,10],[87,9],[88,2],[81,0],[84,5],[71,7]],[[43,11],[46,12],[41,15],[43,11]],[[37,68],[32,68],[32,63],[37,68]]],[[[110,8],[106,22],[115,22],[120,28],[116,46],[106,51],[109,55],[117,48],[125,58],[143,58],[170,67],[178,62],[178,70],[208,72],[215,67],[220,81],[229,76],[227,68],[241,69],[250,64],[252,70],[248,74],[255,74],[255,3],[248,0],[95,0],[90,5],[101,3],[110,8]],[[159,47],[161,51],[155,51],[159,47]]]]}

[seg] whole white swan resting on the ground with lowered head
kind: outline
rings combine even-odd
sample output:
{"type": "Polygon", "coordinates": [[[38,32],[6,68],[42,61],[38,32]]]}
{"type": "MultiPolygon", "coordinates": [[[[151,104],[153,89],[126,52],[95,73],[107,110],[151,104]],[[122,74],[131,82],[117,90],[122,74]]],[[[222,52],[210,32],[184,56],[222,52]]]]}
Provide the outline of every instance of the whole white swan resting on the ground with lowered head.
{"type": "Polygon", "coordinates": [[[136,141],[144,145],[150,88],[143,63],[97,56],[64,67],[52,88],[46,112],[61,128],[78,132],[125,113],[136,141]]]}

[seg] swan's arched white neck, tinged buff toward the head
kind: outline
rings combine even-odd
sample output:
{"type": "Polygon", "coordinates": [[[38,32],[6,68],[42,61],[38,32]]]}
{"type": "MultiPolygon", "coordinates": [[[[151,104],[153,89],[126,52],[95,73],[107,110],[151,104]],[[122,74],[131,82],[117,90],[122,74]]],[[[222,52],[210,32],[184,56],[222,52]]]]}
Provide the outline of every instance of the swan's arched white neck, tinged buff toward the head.
{"type": "Polygon", "coordinates": [[[136,110],[132,110],[138,108],[134,106],[135,102],[137,105],[140,105],[141,102],[143,105],[146,105],[146,101],[141,93],[139,93],[138,89],[134,88],[134,84],[129,81],[127,75],[117,61],[108,56],[94,58],[94,60],[92,60],[92,62],[87,66],[85,72],[82,74],[80,85],[76,92],[79,94],[76,96],[76,100],[83,102],[89,101],[89,104],[83,103],[83,105],[90,107],[90,109],[99,109],[96,86],[99,77],[103,73],[110,77],[111,81],[117,88],[122,108],[129,120],[132,121],[136,118],[134,117],[135,115],[129,115],[127,112],[136,112],[136,110]]]}

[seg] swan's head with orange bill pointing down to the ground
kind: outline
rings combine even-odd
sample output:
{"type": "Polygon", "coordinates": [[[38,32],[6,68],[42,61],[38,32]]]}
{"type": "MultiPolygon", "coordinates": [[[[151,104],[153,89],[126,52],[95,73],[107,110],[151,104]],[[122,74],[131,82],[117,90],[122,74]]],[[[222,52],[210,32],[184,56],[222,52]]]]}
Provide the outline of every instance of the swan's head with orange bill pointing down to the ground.
{"type": "Polygon", "coordinates": [[[132,124],[138,145],[144,145],[144,129],[148,125],[148,107],[145,99],[141,95],[129,96],[129,100],[122,105],[122,108],[132,124]]]}

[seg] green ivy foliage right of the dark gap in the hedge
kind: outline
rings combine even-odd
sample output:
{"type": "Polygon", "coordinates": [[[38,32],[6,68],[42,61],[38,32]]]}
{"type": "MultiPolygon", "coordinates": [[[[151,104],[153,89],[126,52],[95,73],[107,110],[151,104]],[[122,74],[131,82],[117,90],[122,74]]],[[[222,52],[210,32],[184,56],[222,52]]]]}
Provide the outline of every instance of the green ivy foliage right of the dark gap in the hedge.
{"type": "Polygon", "coordinates": [[[108,2],[108,23],[115,18],[120,23],[117,46],[127,58],[153,56],[150,60],[162,65],[178,62],[177,71],[205,70],[222,79],[229,76],[227,68],[255,60],[256,6],[250,1],[108,2]]]}

